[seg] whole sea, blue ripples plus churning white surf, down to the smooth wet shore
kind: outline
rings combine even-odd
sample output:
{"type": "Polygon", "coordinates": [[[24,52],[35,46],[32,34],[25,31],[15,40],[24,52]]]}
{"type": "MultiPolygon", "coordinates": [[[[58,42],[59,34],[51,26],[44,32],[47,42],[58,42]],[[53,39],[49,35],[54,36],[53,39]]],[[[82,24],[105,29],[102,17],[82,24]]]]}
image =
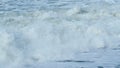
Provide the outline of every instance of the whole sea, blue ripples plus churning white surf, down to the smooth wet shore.
{"type": "Polygon", "coordinates": [[[0,68],[119,47],[120,1],[0,0],[0,68]]]}

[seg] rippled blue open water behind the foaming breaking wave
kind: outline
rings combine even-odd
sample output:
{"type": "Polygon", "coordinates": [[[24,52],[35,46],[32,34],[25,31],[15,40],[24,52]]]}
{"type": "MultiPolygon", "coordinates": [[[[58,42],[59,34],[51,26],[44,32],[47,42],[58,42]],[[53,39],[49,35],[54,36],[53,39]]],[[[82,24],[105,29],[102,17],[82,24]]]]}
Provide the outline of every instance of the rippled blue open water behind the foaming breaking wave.
{"type": "MultiPolygon", "coordinates": [[[[113,0],[1,0],[0,11],[36,11],[41,9],[65,9],[74,5],[89,5],[91,3],[112,4],[113,0]]],[[[119,1],[114,1],[118,4],[119,1]]]]}

